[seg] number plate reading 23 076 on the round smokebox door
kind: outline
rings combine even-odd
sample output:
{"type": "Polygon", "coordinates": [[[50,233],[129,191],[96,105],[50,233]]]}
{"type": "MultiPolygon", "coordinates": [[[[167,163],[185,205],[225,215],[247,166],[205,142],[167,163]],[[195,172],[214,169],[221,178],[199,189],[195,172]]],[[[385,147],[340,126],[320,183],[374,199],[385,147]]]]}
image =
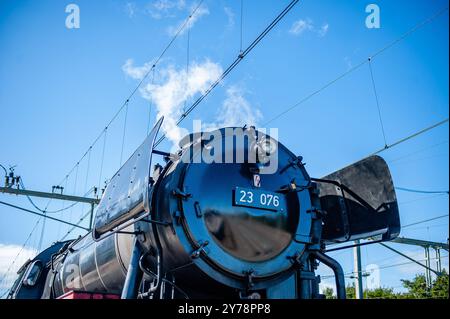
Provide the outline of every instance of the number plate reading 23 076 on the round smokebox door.
{"type": "Polygon", "coordinates": [[[278,193],[254,188],[236,187],[234,205],[273,211],[283,211],[284,197],[278,193]]]}

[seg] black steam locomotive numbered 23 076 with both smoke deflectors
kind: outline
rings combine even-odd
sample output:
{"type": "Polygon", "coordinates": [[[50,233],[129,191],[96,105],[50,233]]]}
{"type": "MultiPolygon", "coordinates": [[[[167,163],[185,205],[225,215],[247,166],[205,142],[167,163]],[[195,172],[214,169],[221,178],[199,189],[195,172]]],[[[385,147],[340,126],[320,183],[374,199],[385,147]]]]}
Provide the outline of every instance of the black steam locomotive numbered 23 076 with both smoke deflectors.
{"type": "Polygon", "coordinates": [[[315,274],[323,263],[344,299],[344,274],[327,247],[400,232],[378,156],[311,178],[301,156],[253,127],[194,133],[176,153],[156,150],[162,121],[109,182],[92,231],[29,260],[8,298],[324,298],[315,274]],[[153,155],[165,165],[152,166],[153,155]]]}

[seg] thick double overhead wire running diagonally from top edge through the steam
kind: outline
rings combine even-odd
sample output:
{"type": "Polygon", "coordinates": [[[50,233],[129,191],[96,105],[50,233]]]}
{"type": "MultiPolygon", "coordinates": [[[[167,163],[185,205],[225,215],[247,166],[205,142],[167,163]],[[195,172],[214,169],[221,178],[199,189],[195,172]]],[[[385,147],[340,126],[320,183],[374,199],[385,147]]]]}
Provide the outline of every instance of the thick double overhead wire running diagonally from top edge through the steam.
{"type": "MultiPolygon", "coordinates": [[[[183,120],[214,90],[214,88],[219,85],[227,77],[227,75],[258,45],[258,43],[284,18],[284,16],[298,3],[299,0],[291,1],[284,9],[281,11],[277,17],[275,17],[270,24],[250,43],[247,48],[240,52],[236,59],[223,71],[219,78],[214,81],[209,88],[201,94],[197,100],[181,115],[177,121],[179,125],[183,120]]],[[[154,147],[158,146],[164,139],[165,135],[162,135],[155,143],[154,147]]]]}

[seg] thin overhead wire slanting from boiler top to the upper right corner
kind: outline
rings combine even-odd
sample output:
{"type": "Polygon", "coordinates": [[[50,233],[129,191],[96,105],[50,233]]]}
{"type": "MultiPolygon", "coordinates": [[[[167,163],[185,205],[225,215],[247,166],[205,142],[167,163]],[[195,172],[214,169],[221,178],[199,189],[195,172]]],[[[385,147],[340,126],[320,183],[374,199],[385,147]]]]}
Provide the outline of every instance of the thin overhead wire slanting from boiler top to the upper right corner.
{"type": "Polygon", "coordinates": [[[361,61],[360,63],[356,64],[355,66],[353,66],[352,68],[348,69],[347,71],[341,73],[339,76],[337,76],[336,78],[332,79],[331,81],[327,82],[326,84],[324,84],[322,87],[320,87],[319,89],[311,92],[310,94],[306,95],[303,99],[301,99],[300,101],[298,101],[297,103],[293,104],[292,106],[286,108],[285,110],[283,110],[282,112],[278,113],[277,115],[275,115],[273,118],[271,118],[269,121],[267,121],[266,123],[263,124],[264,127],[267,127],[268,124],[272,123],[273,121],[279,119],[281,116],[285,115],[286,113],[292,111],[293,109],[297,108],[298,106],[302,105],[303,103],[305,103],[306,101],[310,100],[312,97],[318,95],[319,93],[321,93],[322,91],[326,90],[327,88],[329,88],[330,86],[332,86],[333,84],[335,84],[336,82],[338,82],[339,80],[347,77],[349,74],[355,72],[356,70],[358,70],[359,68],[361,68],[363,65],[365,65],[366,63],[369,63],[370,60],[373,60],[375,57],[377,57],[378,55],[382,54],[383,52],[385,52],[386,50],[392,48],[393,46],[395,46],[396,44],[398,44],[399,42],[401,42],[402,40],[404,40],[405,38],[407,38],[408,36],[410,36],[411,34],[413,34],[414,32],[416,32],[417,30],[419,30],[420,28],[422,28],[423,26],[429,24],[430,22],[434,21],[436,18],[438,18],[439,16],[441,16],[442,14],[444,14],[445,12],[448,11],[448,7],[442,8],[441,10],[439,10],[437,13],[435,13],[433,16],[421,21],[420,23],[416,24],[413,28],[409,29],[407,32],[405,32],[404,34],[402,34],[400,37],[394,39],[393,41],[389,42],[388,44],[386,44],[384,47],[380,48],[379,50],[377,50],[376,52],[374,52],[373,54],[371,54],[369,56],[369,58],[361,61]]]}

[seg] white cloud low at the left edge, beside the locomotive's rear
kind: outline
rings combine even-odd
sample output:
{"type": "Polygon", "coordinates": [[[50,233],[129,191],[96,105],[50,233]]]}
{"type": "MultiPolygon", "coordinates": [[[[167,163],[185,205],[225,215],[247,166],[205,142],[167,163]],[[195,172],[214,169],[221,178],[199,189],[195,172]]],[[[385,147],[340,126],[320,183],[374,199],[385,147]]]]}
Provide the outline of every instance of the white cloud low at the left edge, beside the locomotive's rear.
{"type": "Polygon", "coordinates": [[[36,251],[32,248],[25,247],[22,250],[22,246],[0,244],[0,295],[11,288],[19,268],[35,255],[36,251]],[[14,259],[15,262],[12,264],[14,259]]]}

